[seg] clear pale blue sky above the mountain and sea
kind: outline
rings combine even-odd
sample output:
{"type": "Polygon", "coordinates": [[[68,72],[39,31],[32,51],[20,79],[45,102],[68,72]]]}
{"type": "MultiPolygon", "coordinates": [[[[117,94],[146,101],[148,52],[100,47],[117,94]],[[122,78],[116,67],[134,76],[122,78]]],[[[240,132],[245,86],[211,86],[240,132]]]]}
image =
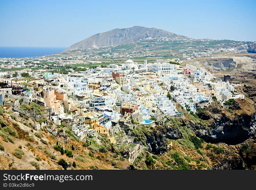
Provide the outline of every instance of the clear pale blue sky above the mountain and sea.
{"type": "Polygon", "coordinates": [[[256,41],[256,1],[0,0],[0,46],[69,47],[115,28],[256,41]]]}

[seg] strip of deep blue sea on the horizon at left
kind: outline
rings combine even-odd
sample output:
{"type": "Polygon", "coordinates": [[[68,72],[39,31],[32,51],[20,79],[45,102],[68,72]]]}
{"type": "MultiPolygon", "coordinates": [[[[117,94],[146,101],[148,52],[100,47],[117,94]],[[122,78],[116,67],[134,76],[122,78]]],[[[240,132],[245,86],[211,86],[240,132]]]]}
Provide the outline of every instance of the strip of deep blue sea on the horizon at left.
{"type": "Polygon", "coordinates": [[[60,53],[67,47],[0,47],[0,58],[40,57],[60,53]]]}

